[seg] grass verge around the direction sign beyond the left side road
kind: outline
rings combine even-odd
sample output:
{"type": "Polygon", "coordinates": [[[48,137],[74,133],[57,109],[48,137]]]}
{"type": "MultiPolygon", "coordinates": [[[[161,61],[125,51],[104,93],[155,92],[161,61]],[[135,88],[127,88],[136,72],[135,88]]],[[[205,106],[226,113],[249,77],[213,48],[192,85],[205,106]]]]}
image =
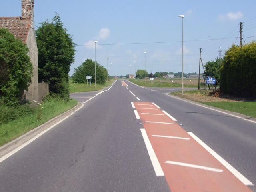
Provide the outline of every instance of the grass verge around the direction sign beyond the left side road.
{"type": "Polygon", "coordinates": [[[76,93],[76,92],[88,92],[88,91],[99,91],[102,90],[108,86],[110,86],[112,83],[114,82],[114,80],[109,81],[109,82],[105,82],[104,85],[100,85],[100,84],[96,84],[96,88],[95,88],[95,84],[92,83],[90,86],[90,82],[87,83],[73,83],[72,80],[70,79],[70,93],[76,93]]]}

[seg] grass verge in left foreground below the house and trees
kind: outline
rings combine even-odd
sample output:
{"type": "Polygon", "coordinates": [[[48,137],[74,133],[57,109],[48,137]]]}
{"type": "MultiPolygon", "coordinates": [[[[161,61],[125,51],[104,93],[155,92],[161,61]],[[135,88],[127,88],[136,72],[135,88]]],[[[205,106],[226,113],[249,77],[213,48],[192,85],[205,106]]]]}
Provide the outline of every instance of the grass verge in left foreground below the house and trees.
{"type": "Polygon", "coordinates": [[[31,114],[0,124],[0,146],[73,108],[76,104],[78,104],[78,102],[73,99],[68,103],[61,100],[50,99],[42,103],[42,107],[44,108],[37,106],[31,114]]]}

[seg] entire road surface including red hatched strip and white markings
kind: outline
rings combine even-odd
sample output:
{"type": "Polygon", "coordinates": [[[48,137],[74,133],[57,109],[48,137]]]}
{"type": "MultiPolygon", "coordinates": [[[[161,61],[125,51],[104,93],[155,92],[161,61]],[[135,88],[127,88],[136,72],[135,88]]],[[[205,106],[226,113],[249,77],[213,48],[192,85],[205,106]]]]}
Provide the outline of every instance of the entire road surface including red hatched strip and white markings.
{"type": "Polygon", "coordinates": [[[79,110],[0,157],[0,191],[255,191],[256,123],[174,90],[71,94],[79,110]]]}

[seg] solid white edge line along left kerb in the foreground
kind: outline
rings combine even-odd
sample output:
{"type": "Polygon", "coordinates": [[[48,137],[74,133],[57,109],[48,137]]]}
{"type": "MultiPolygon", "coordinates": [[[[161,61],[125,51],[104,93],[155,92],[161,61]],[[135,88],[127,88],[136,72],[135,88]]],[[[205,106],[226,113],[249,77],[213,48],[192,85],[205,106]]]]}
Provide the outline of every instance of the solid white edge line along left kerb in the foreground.
{"type": "Polygon", "coordinates": [[[49,128],[47,128],[46,130],[40,132],[39,134],[37,134],[36,136],[34,136],[33,138],[31,138],[30,140],[28,140],[27,142],[25,142],[24,144],[20,145],[19,147],[17,147],[16,149],[12,150],[10,153],[2,156],[0,158],[0,162],[6,160],[7,158],[9,158],[10,156],[12,156],[13,154],[15,154],[16,152],[18,152],[19,150],[21,150],[22,148],[24,148],[25,146],[27,146],[28,144],[30,144],[31,142],[33,142],[34,140],[36,140],[38,137],[42,136],[44,133],[46,133],[48,130],[52,129],[54,126],[58,125],[60,122],[64,121],[66,118],[69,118],[72,114],[74,114],[75,112],[77,112],[78,110],[80,110],[82,107],[84,106],[84,104],[82,104],[82,106],[78,109],[76,109],[74,112],[72,112],[70,115],[66,116],[65,118],[63,118],[62,120],[56,122],[54,125],[50,126],[49,128]]]}

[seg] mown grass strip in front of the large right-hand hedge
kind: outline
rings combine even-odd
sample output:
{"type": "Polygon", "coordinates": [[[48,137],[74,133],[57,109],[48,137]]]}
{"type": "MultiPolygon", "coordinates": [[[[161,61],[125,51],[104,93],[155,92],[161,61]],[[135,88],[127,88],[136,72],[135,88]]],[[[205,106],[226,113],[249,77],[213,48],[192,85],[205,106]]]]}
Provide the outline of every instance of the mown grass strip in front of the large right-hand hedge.
{"type": "Polygon", "coordinates": [[[256,118],[256,102],[219,101],[200,103],[256,118]]]}

